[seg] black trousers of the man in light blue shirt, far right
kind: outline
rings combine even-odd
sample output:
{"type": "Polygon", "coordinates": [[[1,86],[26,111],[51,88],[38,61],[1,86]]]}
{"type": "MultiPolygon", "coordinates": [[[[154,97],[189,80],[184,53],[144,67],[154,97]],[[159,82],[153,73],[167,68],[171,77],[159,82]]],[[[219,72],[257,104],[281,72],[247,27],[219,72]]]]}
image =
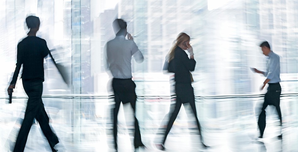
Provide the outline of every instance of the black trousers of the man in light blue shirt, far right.
{"type": "Polygon", "coordinates": [[[273,105],[276,107],[276,111],[279,116],[280,124],[282,122],[281,111],[280,111],[280,106],[279,106],[280,94],[281,94],[281,87],[280,87],[279,83],[269,84],[267,93],[265,94],[262,111],[261,111],[261,114],[260,114],[259,120],[258,120],[258,125],[259,125],[261,136],[263,136],[264,130],[266,127],[266,111],[265,111],[265,109],[268,105],[273,105]]]}

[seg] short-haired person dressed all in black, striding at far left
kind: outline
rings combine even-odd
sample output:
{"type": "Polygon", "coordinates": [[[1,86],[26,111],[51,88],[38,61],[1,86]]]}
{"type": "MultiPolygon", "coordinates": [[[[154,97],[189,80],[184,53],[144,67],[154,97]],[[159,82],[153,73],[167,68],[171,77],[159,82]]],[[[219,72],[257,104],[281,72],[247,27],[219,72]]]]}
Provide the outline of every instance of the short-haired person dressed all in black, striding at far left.
{"type": "Polygon", "coordinates": [[[43,61],[49,53],[47,42],[44,39],[36,37],[39,30],[40,20],[36,16],[28,16],[26,24],[30,31],[28,36],[19,42],[17,46],[17,63],[13,79],[8,87],[14,89],[19,75],[21,65],[23,64],[22,82],[28,95],[28,102],[25,111],[25,117],[22,122],[15,146],[14,152],[23,152],[28,138],[33,119],[36,118],[43,134],[46,136],[52,151],[54,146],[59,143],[55,133],[52,132],[49,125],[49,117],[42,103],[41,95],[44,81],[43,61]]]}

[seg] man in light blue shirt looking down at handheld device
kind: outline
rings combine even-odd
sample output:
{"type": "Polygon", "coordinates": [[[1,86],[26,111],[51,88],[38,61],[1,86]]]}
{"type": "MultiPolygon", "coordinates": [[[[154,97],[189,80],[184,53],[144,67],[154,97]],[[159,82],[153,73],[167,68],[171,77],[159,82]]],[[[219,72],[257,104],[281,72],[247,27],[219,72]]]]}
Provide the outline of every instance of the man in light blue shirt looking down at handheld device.
{"type": "MultiPolygon", "coordinates": [[[[267,79],[263,82],[261,90],[264,89],[266,84],[269,84],[267,93],[265,94],[264,103],[262,106],[262,112],[259,116],[258,125],[260,128],[261,135],[259,138],[263,138],[263,133],[266,127],[266,107],[268,105],[273,105],[276,107],[277,113],[279,115],[280,125],[282,124],[281,119],[281,112],[280,112],[280,94],[281,94],[281,87],[280,87],[280,62],[279,56],[275,54],[273,51],[270,50],[270,45],[267,41],[262,42],[260,45],[262,48],[262,52],[265,56],[268,57],[267,59],[267,70],[265,72],[259,71],[256,68],[252,68],[253,72],[263,74],[267,79]]],[[[278,136],[282,138],[282,135],[278,136]]]]}

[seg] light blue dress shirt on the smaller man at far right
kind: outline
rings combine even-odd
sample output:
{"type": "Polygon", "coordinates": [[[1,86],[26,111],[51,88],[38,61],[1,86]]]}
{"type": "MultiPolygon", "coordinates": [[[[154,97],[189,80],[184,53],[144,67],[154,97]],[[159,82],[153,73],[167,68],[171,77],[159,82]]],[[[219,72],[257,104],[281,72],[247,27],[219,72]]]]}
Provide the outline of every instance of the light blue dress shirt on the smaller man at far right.
{"type": "Polygon", "coordinates": [[[268,83],[279,83],[280,82],[280,62],[279,56],[273,51],[270,51],[267,59],[267,71],[263,72],[267,79],[270,79],[268,83]]]}

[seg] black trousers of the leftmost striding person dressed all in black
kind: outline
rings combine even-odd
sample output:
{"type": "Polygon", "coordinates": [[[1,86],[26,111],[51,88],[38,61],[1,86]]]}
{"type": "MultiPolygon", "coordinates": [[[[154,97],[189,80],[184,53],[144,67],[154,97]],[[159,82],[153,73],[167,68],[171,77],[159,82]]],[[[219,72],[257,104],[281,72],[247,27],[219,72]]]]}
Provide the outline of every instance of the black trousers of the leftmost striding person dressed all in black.
{"type": "Polygon", "coordinates": [[[25,117],[14,146],[14,152],[24,151],[34,118],[38,121],[43,134],[46,136],[50,144],[50,147],[53,148],[57,143],[59,143],[59,140],[50,128],[49,117],[47,116],[41,100],[43,89],[42,80],[23,80],[23,86],[26,94],[28,95],[28,102],[25,117]]]}

